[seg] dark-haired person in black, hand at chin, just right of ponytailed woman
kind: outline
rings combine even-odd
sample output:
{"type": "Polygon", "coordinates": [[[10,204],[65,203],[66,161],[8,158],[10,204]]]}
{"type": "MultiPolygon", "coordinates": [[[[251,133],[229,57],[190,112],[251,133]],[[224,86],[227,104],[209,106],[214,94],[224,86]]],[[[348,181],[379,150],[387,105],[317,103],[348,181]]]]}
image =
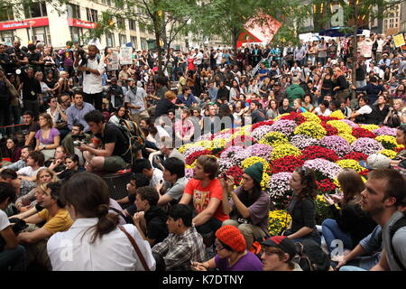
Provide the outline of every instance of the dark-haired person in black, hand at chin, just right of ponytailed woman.
{"type": "Polygon", "coordinates": [[[135,206],[138,212],[133,217],[134,225],[151,247],[163,241],[169,234],[166,226],[168,212],[158,206],[158,200],[160,200],[159,193],[151,186],[142,187],[136,191],[135,206]]]}

